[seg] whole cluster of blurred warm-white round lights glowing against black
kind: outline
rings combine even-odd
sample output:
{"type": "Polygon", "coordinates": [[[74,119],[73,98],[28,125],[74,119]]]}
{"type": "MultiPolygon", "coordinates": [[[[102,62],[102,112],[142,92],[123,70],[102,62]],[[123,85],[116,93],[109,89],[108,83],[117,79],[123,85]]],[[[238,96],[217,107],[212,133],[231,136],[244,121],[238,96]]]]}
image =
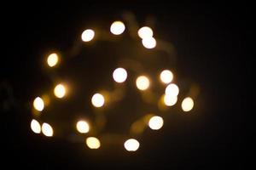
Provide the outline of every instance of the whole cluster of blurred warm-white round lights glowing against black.
{"type": "MultiPolygon", "coordinates": [[[[110,26],[110,32],[119,36],[125,31],[125,24],[121,21],[114,21],[110,26]]],[[[81,35],[81,39],[83,42],[90,42],[95,37],[95,31],[92,29],[87,29],[83,31],[81,35]]],[[[138,37],[142,39],[143,46],[145,48],[154,48],[156,46],[156,40],[154,39],[154,32],[148,26],[143,26],[137,31],[138,37]]],[[[49,54],[47,58],[47,64],[49,67],[54,67],[60,61],[60,57],[58,54],[49,54]]],[[[163,103],[166,106],[172,106],[177,103],[177,96],[179,94],[179,88],[177,84],[173,83],[173,73],[170,70],[163,70],[160,72],[159,78],[160,82],[166,85],[165,94],[163,94],[163,103]]],[[[113,71],[113,81],[117,83],[124,83],[128,78],[128,73],[125,68],[116,68],[113,71]]],[[[150,79],[145,75],[140,75],[137,77],[135,81],[135,85],[138,90],[146,91],[150,88],[150,79]]],[[[53,94],[57,99],[62,99],[67,95],[67,87],[63,83],[59,83],[53,88],[53,94]]],[[[105,104],[105,97],[103,94],[96,93],[91,97],[91,104],[96,108],[101,108],[105,104]]],[[[44,99],[37,97],[33,100],[33,108],[34,110],[41,112],[44,110],[44,99]]],[[[183,99],[181,104],[183,111],[191,111],[194,107],[194,101],[192,98],[187,97],[183,99]]],[[[148,119],[148,127],[152,130],[159,130],[164,125],[164,120],[161,116],[151,116],[148,119]]],[[[31,129],[34,133],[44,133],[47,137],[52,137],[54,135],[53,127],[51,127],[48,123],[44,122],[42,126],[40,123],[32,119],[31,129]]],[[[85,120],[79,120],[76,123],[76,129],[78,133],[89,133],[91,130],[90,123],[85,120]]],[[[90,149],[98,149],[101,147],[101,141],[96,137],[88,137],[85,139],[85,144],[90,149]]],[[[136,151],[140,144],[137,139],[127,139],[124,142],[125,150],[128,151],[136,151]]]]}

